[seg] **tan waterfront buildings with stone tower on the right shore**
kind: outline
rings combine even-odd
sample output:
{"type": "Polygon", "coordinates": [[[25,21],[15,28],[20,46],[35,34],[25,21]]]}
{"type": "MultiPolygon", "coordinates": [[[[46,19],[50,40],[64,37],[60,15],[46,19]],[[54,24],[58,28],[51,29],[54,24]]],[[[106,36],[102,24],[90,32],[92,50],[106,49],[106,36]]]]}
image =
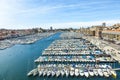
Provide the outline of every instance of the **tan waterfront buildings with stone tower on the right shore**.
{"type": "Polygon", "coordinates": [[[102,26],[80,28],[78,32],[87,36],[95,36],[99,39],[108,40],[116,44],[120,43],[120,24],[114,24],[113,26],[106,27],[106,23],[103,23],[102,26]]]}

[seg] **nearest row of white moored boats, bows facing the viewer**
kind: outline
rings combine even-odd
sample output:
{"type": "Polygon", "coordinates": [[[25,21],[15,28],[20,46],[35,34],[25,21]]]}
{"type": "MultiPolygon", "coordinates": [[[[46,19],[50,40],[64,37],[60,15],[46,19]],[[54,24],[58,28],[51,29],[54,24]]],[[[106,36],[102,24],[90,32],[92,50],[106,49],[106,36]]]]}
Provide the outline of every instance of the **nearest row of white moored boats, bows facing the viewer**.
{"type": "Polygon", "coordinates": [[[94,64],[45,64],[38,65],[36,69],[30,71],[28,76],[101,76],[116,77],[116,72],[110,65],[94,65],[94,64]]]}

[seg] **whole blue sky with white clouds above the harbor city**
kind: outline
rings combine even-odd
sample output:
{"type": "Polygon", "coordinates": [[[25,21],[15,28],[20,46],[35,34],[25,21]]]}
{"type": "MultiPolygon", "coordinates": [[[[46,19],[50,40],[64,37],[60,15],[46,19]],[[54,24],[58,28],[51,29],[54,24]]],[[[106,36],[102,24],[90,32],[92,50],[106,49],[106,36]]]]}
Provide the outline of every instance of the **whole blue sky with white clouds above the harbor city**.
{"type": "Polygon", "coordinates": [[[0,0],[0,28],[80,28],[120,23],[120,0],[0,0]]]}

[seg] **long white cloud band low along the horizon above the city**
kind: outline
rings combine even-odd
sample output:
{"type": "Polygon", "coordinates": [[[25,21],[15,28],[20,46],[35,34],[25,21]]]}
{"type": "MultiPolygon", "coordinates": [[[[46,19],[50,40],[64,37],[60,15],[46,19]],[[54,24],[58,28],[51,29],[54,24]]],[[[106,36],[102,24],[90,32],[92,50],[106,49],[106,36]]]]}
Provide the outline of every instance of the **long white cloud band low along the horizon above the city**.
{"type": "MultiPolygon", "coordinates": [[[[79,29],[80,27],[90,27],[95,25],[102,25],[102,23],[105,22],[107,26],[111,26],[116,23],[120,23],[120,20],[102,20],[102,21],[88,21],[88,22],[66,22],[66,23],[45,23],[45,24],[22,24],[18,25],[19,28],[13,28],[13,29],[28,29],[28,28],[43,28],[48,29],[51,26],[53,29],[59,29],[59,28],[76,28],[79,29]]],[[[8,28],[11,26],[15,27],[16,25],[9,25],[8,28]]]]}

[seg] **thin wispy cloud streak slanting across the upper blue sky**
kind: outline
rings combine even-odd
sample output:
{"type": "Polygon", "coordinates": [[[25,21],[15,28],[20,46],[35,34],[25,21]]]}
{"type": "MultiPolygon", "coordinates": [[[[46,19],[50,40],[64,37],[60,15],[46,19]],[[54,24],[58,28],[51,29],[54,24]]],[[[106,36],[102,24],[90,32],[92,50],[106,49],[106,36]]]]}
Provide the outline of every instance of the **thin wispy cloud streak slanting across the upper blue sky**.
{"type": "MultiPolygon", "coordinates": [[[[44,0],[43,0],[44,1],[44,0]]],[[[45,2],[47,2],[45,0],[45,2]]],[[[19,13],[48,13],[51,12],[51,10],[56,10],[56,9],[67,9],[67,8],[81,8],[81,9],[90,9],[92,6],[91,5],[97,5],[103,2],[90,2],[90,3],[76,3],[76,4],[55,4],[55,5],[45,5],[45,6],[38,6],[35,8],[30,8],[30,9],[23,9],[19,11],[19,13]]],[[[105,3],[105,2],[104,2],[105,3]]],[[[101,7],[103,8],[103,6],[101,7]]]]}

